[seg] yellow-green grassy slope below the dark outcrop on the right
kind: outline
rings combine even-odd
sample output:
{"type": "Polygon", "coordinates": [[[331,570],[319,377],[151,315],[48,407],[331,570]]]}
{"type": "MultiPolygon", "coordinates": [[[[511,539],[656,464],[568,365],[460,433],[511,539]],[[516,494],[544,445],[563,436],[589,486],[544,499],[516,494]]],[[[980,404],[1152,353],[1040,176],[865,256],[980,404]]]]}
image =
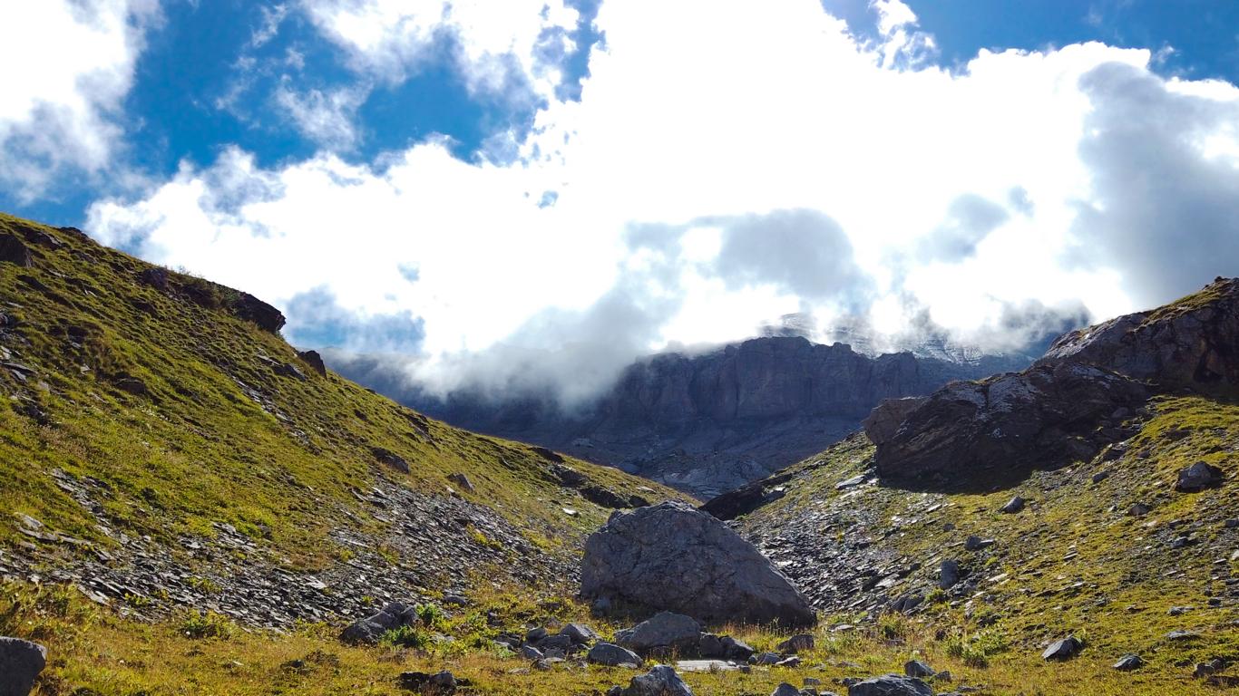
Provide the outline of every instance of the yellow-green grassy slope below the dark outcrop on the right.
{"type": "MultiPolygon", "coordinates": [[[[1033,472],[1014,489],[981,494],[880,485],[836,490],[836,483],[870,466],[872,446],[855,436],[798,464],[788,495],[740,524],[769,534],[781,525],[805,524],[814,511],[838,509],[836,504],[878,510],[878,526],[867,531],[881,537],[895,529],[881,545],[922,563],[891,594],[926,592],[928,607],[912,620],[923,633],[942,635],[939,649],[954,645],[987,659],[989,668],[970,671],[995,687],[1014,692],[1021,684],[1016,676],[1035,682],[1064,669],[1044,666],[1038,654],[1048,642],[1074,633],[1088,646],[1070,669],[1094,670],[1098,680],[1114,681],[1109,665],[1136,653],[1149,666],[1115,684],[1127,685],[1127,692],[1156,692],[1154,685],[1170,682],[1173,692],[1188,692],[1186,675],[1196,663],[1239,661],[1239,607],[1225,585],[1239,573],[1232,557],[1239,549],[1239,529],[1225,524],[1239,519],[1239,405],[1180,396],[1158,399],[1154,410],[1127,453],[1114,461],[1033,472]],[[1196,494],[1173,492],[1178,471],[1197,461],[1220,467],[1225,484],[1196,494]],[[1094,483],[1100,471],[1110,476],[1094,483]],[[1028,508],[1016,515],[997,513],[1015,494],[1028,499],[1028,508]],[[1152,511],[1130,516],[1126,510],[1134,503],[1149,504],[1152,511]],[[1184,531],[1196,545],[1171,550],[1170,542],[1184,531]],[[963,540],[974,534],[997,544],[965,551],[963,540]],[[981,577],[974,593],[933,592],[938,563],[948,557],[981,577]],[[1209,607],[1211,597],[1222,599],[1222,606],[1209,607]],[[1194,608],[1172,617],[1168,611],[1176,606],[1194,608]],[[1177,629],[1201,635],[1184,643],[1167,640],[1166,634],[1177,629]],[[1011,681],[1004,684],[1005,679],[1011,681]]],[[[824,536],[845,531],[857,534],[829,524],[820,529],[824,536]]]]}

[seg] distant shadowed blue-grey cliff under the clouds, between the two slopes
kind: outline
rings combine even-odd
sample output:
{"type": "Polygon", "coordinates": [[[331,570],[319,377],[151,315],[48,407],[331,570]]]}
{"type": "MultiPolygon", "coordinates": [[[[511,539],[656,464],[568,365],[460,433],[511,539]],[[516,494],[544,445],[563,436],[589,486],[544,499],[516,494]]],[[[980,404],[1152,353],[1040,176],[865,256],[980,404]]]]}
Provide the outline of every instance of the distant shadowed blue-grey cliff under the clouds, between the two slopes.
{"type": "Polygon", "coordinates": [[[954,379],[1026,364],[912,353],[870,358],[845,344],[767,337],[637,362],[581,415],[536,400],[494,406],[462,394],[416,406],[462,427],[536,442],[710,498],[839,441],[882,399],[924,395],[954,379]]]}

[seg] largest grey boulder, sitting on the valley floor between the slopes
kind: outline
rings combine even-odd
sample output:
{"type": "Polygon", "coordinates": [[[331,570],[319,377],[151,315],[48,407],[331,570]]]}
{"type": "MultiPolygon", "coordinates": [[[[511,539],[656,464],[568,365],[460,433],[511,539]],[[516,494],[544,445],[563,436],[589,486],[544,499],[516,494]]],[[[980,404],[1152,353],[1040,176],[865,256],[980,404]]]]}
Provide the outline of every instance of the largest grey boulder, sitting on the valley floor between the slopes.
{"type": "Polygon", "coordinates": [[[581,594],[690,614],[706,622],[815,622],[808,598],[719,519],[669,502],[616,513],[590,535],[581,594]]]}

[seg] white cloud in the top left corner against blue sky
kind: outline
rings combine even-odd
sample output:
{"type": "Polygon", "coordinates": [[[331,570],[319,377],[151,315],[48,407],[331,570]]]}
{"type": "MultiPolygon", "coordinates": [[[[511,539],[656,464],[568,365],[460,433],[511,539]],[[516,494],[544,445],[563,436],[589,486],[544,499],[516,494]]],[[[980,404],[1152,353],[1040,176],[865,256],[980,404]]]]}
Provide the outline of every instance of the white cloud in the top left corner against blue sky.
{"type": "Polygon", "coordinates": [[[157,0],[0,2],[0,183],[41,194],[64,167],[110,165],[121,100],[157,0]]]}

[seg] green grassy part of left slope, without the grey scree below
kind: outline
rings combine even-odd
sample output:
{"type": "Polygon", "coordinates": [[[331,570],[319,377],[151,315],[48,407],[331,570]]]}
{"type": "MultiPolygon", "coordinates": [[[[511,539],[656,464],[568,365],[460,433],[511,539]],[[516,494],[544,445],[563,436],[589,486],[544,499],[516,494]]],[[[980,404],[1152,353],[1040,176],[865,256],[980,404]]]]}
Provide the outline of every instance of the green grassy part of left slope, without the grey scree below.
{"type": "MultiPolygon", "coordinates": [[[[211,536],[212,523],[225,523],[292,567],[315,568],[339,551],[330,529],[382,524],[353,514],[363,504],[351,489],[373,484],[380,466],[370,448],[384,447],[413,471],[384,468],[383,476],[446,494],[446,477],[463,472],[476,487],[460,492],[465,498],[493,508],[544,549],[575,547],[610,511],[559,488],[546,461],[527,446],[422,419],[331,373],[321,378],[279,336],[185,292],[141,284],[147,264],[0,215],[0,232],[22,227],[63,245],[27,244],[33,268],[0,264],[0,312],[20,321],[0,346],[35,370],[20,380],[0,369],[0,389],[14,405],[0,409],[0,500],[7,510],[102,549],[116,533],[172,540],[211,536]],[[310,379],[278,375],[260,355],[299,365],[310,379]],[[126,375],[141,379],[149,394],[118,389],[126,375]],[[266,407],[239,383],[268,399],[266,407]],[[46,411],[47,425],[20,412],[30,401],[46,411]],[[110,536],[56,485],[53,469],[104,484],[110,536]]],[[[173,286],[224,301],[233,292],[171,276],[173,286]]],[[[616,469],[572,466],[615,490],[647,484],[616,469]]],[[[670,495],[650,488],[657,492],[649,497],[670,495]]],[[[0,549],[28,541],[15,515],[0,516],[0,549]]]]}

